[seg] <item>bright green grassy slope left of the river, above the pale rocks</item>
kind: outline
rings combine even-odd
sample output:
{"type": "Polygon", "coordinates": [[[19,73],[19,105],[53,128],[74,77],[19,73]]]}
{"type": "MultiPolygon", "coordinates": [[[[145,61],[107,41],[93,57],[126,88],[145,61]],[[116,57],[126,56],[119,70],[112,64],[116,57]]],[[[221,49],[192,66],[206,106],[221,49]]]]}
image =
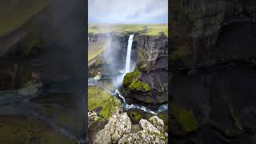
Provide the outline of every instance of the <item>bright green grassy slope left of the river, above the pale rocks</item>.
{"type": "Polygon", "coordinates": [[[120,106],[120,103],[109,93],[96,86],[88,87],[88,109],[94,110],[97,107],[102,107],[99,114],[101,119],[110,118],[116,106],[120,106]]]}

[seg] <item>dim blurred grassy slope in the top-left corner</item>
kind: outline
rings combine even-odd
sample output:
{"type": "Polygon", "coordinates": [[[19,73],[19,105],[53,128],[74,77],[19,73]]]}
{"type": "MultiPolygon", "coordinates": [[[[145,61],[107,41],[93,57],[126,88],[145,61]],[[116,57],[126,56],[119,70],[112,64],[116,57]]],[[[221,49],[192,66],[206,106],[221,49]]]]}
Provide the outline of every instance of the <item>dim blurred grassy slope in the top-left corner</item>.
{"type": "Polygon", "coordinates": [[[50,0],[3,1],[0,5],[0,36],[23,26],[50,4],[50,0]]]}

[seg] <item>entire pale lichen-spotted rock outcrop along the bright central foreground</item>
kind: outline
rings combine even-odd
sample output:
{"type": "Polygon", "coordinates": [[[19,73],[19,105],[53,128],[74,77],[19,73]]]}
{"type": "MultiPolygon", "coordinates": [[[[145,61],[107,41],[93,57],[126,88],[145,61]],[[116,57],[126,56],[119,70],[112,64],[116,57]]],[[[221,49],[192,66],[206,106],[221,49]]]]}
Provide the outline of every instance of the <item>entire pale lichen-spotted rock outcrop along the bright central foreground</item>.
{"type": "Polygon", "coordinates": [[[162,119],[157,116],[149,121],[141,119],[138,126],[131,124],[126,113],[116,113],[111,116],[105,128],[98,131],[92,143],[168,143],[168,134],[164,133],[162,126],[162,119]]]}

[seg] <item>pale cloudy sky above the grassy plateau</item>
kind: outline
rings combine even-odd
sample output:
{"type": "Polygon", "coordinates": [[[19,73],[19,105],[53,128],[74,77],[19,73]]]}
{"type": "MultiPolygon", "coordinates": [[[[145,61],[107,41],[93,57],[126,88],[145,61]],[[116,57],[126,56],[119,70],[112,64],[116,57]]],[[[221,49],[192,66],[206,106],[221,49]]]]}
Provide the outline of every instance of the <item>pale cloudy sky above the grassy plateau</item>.
{"type": "Polygon", "coordinates": [[[167,23],[168,0],[89,0],[89,23],[167,23]]]}

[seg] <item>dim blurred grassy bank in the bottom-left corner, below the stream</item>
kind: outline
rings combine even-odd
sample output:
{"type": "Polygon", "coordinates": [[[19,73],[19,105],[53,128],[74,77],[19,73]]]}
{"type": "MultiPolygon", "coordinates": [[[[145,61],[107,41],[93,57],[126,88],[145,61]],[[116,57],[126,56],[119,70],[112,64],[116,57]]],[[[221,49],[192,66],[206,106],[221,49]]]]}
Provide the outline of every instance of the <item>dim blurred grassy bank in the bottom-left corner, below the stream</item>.
{"type": "Polygon", "coordinates": [[[58,134],[44,123],[22,115],[0,116],[0,142],[8,144],[76,143],[58,134]]]}

